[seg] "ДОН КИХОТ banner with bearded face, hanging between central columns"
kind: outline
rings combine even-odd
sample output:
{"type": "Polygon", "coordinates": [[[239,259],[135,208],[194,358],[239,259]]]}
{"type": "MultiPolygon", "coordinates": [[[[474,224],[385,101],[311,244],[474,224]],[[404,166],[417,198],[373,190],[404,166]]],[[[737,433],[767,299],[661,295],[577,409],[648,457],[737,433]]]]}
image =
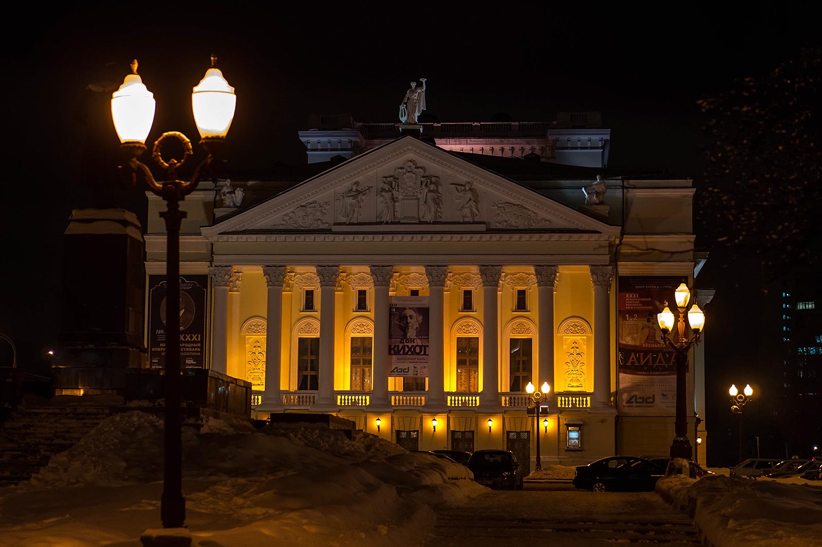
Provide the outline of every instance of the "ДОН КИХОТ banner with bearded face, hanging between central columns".
{"type": "Polygon", "coordinates": [[[388,304],[388,375],[428,375],[428,297],[395,296],[388,304]]]}

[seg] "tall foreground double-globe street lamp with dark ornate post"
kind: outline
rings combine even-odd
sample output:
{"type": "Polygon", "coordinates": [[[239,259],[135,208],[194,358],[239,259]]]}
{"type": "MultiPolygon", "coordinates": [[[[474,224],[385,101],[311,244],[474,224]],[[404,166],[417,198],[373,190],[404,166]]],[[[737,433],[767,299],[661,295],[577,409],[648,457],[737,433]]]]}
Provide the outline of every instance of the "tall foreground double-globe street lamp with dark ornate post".
{"type": "Polygon", "coordinates": [[[211,67],[200,83],[192,90],[192,110],[200,144],[208,157],[197,165],[191,180],[178,178],[178,169],[192,155],[192,142],[181,132],[164,132],[154,143],[151,157],[165,171],[165,180],[158,182],[150,169],[138,157],[145,151],[145,139],[154,123],[154,94],[146,89],[137,74],[137,61],[132,61],[132,73],[126,76],[122,86],[112,94],[111,115],[114,128],[120,138],[120,147],[129,155],[132,183],[138,174],[145,178],[151,192],[166,202],[166,211],[159,216],[165,220],[166,238],[166,316],[165,316],[165,431],[163,496],[160,502],[160,519],[164,528],[182,528],[186,521],[186,498],[182,497],[182,431],[180,415],[180,224],[186,217],[180,211],[180,202],[197,187],[206,173],[216,176],[219,166],[217,152],[225,142],[234,118],[237,97],[234,88],[225,81],[223,73],[215,68],[216,58],[211,57],[211,67]],[[164,160],[163,143],[177,139],[182,144],[182,159],[164,160]]]}

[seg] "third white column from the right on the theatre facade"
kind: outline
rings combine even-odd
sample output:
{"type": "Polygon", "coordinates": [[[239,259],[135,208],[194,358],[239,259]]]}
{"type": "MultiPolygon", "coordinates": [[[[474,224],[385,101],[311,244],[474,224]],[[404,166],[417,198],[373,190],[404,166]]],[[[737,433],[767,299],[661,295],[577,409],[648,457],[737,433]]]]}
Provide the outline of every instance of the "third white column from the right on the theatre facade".
{"type": "Polygon", "coordinates": [[[479,394],[482,406],[500,406],[499,348],[500,336],[497,290],[500,286],[501,266],[480,266],[479,276],[483,278],[483,392],[479,394]]]}

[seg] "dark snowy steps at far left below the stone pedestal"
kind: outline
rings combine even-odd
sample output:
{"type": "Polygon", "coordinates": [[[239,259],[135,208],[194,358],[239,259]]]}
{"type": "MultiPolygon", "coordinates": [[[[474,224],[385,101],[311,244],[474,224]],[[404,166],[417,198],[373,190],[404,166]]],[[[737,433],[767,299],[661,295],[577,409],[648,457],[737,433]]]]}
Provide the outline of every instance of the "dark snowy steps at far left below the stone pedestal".
{"type": "Polygon", "coordinates": [[[108,406],[30,406],[0,429],[0,487],[29,480],[109,415],[108,406]]]}

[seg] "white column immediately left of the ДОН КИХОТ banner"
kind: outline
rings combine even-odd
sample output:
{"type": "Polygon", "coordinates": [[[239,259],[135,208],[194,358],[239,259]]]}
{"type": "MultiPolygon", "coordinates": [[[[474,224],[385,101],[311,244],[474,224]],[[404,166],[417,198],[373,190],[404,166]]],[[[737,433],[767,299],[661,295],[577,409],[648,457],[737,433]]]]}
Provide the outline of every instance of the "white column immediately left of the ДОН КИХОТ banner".
{"type": "Polygon", "coordinates": [[[388,288],[394,267],[372,266],[374,278],[374,345],[372,350],[372,391],[368,405],[387,408],[388,398],[388,288]]]}

